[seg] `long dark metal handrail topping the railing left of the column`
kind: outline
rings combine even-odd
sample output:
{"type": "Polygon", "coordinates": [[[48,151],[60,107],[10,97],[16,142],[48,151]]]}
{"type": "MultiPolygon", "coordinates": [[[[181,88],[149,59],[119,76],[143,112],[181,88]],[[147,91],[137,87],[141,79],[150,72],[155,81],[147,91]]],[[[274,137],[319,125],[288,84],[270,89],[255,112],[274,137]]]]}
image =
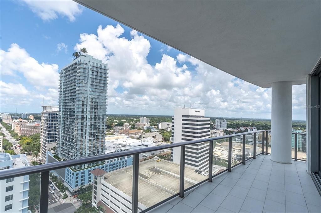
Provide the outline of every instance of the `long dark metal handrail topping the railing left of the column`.
{"type": "Polygon", "coordinates": [[[57,169],[63,169],[66,167],[77,166],[77,165],[82,165],[82,164],[87,164],[87,163],[92,163],[92,162],[97,162],[97,161],[110,160],[110,159],[125,157],[125,156],[129,156],[129,155],[142,154],[145,152],[152,152],[152,151],[169,149],[169,148],[174,148],[174,147],[179,147],[179,146],[187,146],[187,145],[192,145],[192,144],[197,144],[197,143],[202,143],[202,142],[208,142],[211,140],[231,138],[231,137],[248,135],[248,134],[264,132],[264,131],[266,131],[266,130],[257,130],[257,131],[253,131],[253,132],[242,132],[242,133],[238,133],[238,134],[224,135],[224,136],[219,136],[219,137],[214,137],[214,138],[204,138],[204,139],[198,139],[198,140],[192,140],[192,141],[185,141],[185,142],[181,142],[181,143],[152,146],[152,147],[134,149],[134,150],[124,151],[124,152],[102,154],[102,155],[96,155],[96,156],[86,157],[86,158],[79,158],[79,159],[74,159],[74,160],[41,164],[41,165],[36,165],[36,166],[31,166],[31,167],[22,167],[22,168],[10,169],[10,170],[2,170],[2,171],[0,171],[0,180],[7,179],[9,177],[19,177],[19,176],[23,176],[23,175],[29,175],[29,174],[57,170],[57,169]]]}

